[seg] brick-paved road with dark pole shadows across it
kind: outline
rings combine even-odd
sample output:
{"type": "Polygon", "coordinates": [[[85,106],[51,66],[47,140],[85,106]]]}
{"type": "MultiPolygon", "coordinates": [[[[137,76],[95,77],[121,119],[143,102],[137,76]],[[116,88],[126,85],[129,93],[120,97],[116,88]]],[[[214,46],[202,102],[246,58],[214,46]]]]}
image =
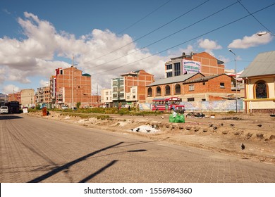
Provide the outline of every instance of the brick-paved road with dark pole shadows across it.
{"type": "Polygon", "coordinates": [[[27,115],[0,115],[0,182],[275,182],[275,165],[27,115]]]}

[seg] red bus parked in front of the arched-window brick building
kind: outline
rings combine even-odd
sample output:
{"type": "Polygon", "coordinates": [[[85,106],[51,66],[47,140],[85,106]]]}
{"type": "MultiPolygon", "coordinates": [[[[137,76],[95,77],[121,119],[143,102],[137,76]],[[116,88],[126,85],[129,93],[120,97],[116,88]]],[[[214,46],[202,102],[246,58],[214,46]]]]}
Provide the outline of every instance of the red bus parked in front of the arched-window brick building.
{"type": "Polygon", "coordinates": [[[185,106],[181,105],[181,98],[170,97],[170,98],[154,98],[152,103],[153,111],[176,111],[178,113],[184,113],[185,106]]]}

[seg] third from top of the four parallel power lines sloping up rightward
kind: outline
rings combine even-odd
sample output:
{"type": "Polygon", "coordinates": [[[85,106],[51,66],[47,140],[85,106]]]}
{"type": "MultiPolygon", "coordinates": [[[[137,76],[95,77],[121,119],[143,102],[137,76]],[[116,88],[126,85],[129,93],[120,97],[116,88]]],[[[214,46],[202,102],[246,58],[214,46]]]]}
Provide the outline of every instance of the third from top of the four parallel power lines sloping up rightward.
{"type": "Polygon", "coordinates": [[[229,7],[231,7],[231,6],[235,5],[235,4],[238,4],[238,2],[235,2],[235,3],[233,3],[233,4],[229,5],[229,6],[226,6],[225,8],[222,8],[221,10],[216,11],[215,13],[212,13],[211,15],[208,15],[207,17],[202,18],[201,20],[198,20],[197,22],[195,22],[195,23],[193,23],[193,24],[191,24],[191,25],[188,25],[188,26],[186,26],[186,27],[183,27],[181,30],[178,30],[178,31],[176,31],[176,32],[173,32],[172,34],[169,34],[168,36],[163,37],[162,39],[159,39],[159,40],[157,40],[157,41],[155,41],[155,42],[152,42],[151,44],[148,44],[148,45],[146,45],[146,46],[143,46],[143,47],[140,48],[140,49],[136,49],[135,51],[133,51],[133,52],[131,52],[131,53],[128,53],[128,54],[125,55],[125,56],[121,56],[121,57],[119,57],[119,58],[115,58],[115,59],[113,59],[113,60],[111,60],[111,61],[108,61],[108,62],[106,62],[106,63],[102,63],[102,64],[99,64],[99,65],[96,65],[96,66],[94,66],[93,68],[97,68],[97,67],[99,67],[99,66],[101,66],[101,65],[106,65],[107,63],[111,63],[111,62],[113,62],[113,61],[117,61],[117,60],[119,60],[119,59],[121,59],[121,58],[124,58],[124,57],[126,57],[126,56],[129,56],[130,54],[133,54],[133,53],[135,53],[135,52],[141,51],[142,49],[145,49],[145,48],[147,48],[148,46],[152,46],[153,44],[156,44],[156,43],[158,43],[158,42],[161,42],[162,40],[164,40],[164,39],[166,39],[166,38],[169,38],[169,37],[171,37],[172,35],[177,34],[178,32],[181,32],[181,31],[183,31],[183,30],[186,30],[186,29],[188,29],[189,27],[192,27],[193,25],[196,25],[197,23],[200,23],[200,22],[202,22],[203,20],[206,20],[207,18],[210,18],[210,17],[213,16],[213,15],[216,15],[217,13],[220,13],[221,11],[224,11],[224,10],[226,10],[227,8],[229,8],[229,7]]]}

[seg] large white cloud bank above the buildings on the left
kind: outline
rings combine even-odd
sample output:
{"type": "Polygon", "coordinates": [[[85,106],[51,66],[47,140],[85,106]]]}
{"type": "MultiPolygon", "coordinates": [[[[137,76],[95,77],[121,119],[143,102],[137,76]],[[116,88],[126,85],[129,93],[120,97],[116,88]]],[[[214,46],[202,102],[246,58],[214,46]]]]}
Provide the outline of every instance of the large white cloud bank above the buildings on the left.
{"type": "Polygon", "coordinates": [[[18,18],[18,23],[25,39],[0,38],[2,84],[5,81],[31,83],[31,77],[50,77],[56,68],[71,66],[72,56],[78,63],[77,68],[92,75],[93,94],[97,85],[99,89],[109,88],[111,78],[131,70],[143,69],[157,78],[164,75],[164,62],[168,58],[152,56],[146,49],[135,52],[137,46],[131,43],[133,39],[128,34],[117,36],[109,30],[92,30],[90,34],[75,38],[68,32],[57,32],[54,25],[40,20],[37,15],[25,12],[24,16],[18,18]],[[70,63],[57,61],[56,56],[70,63]],[[119,58],[122,56],[125,57],[119,58]],[[119,59],[113,61],[116,58],[119,59]]]}

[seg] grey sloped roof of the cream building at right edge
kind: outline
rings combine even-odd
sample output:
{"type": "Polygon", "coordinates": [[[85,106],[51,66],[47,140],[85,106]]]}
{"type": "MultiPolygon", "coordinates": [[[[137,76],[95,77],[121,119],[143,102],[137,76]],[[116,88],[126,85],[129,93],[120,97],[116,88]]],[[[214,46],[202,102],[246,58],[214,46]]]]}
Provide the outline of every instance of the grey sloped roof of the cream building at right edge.
{"type": "Polygon", "coordinates": [[[259,53],[252,63],[245,68],[240,78],[261,75],[275,75],[275,51],[259,53]]]}

